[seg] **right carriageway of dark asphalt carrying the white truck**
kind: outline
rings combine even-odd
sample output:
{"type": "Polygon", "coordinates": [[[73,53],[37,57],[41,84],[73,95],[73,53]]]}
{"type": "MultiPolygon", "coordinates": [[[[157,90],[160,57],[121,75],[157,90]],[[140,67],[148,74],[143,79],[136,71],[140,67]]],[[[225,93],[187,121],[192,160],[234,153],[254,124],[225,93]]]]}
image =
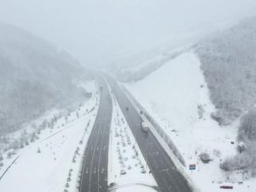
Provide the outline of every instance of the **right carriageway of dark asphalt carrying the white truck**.
{"type": "Polygon", "coordinates": [[[131,102],[120,89],[116,81],[106,75],[108,83],[116,96],[119,106],[125,115],[125,119],[131,127],[133,135],[136,137],[137,144],[143,152],[145,160],[158,184],[161,192],[192,192],[189,183],[183,175],[177,171],[171,158],[161,147],[151,131],[145,132],[141,128],[142,119],[131,105],[131,102]],[[126,110],[126,108],[129,110],[126,110]]]}

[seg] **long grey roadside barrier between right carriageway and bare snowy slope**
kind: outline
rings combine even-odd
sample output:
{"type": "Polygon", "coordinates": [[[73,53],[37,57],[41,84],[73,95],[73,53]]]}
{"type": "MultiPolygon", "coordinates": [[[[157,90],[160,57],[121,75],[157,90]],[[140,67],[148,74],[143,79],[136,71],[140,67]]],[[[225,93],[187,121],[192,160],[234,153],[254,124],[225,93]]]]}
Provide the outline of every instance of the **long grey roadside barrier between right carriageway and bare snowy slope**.
{"type": "Polygon", "coordinates": [[[120,86],[122,90],[124,90],[126,96],[130,98],[130,101],[133,102],[133,104],[143,113],[143,115],[148,119],[148,121],[154,126],[155,131],[160,135],[160,137],[163,139],[163,141],[166,143],[166,145],[172,150],[172,153],[177,157],[177,160],[183,165],[186,166],[185,160],[183,159],[182,154],[177,149],[176,145],[172,142],[172,139],[166,134],[166,131],[164,131],[160,125],[154,120],[154,118],[147,112],[143,106],[137,102],[137,99],[132,96],[131,92],[125,88],[125,86],[120,86]]]}

